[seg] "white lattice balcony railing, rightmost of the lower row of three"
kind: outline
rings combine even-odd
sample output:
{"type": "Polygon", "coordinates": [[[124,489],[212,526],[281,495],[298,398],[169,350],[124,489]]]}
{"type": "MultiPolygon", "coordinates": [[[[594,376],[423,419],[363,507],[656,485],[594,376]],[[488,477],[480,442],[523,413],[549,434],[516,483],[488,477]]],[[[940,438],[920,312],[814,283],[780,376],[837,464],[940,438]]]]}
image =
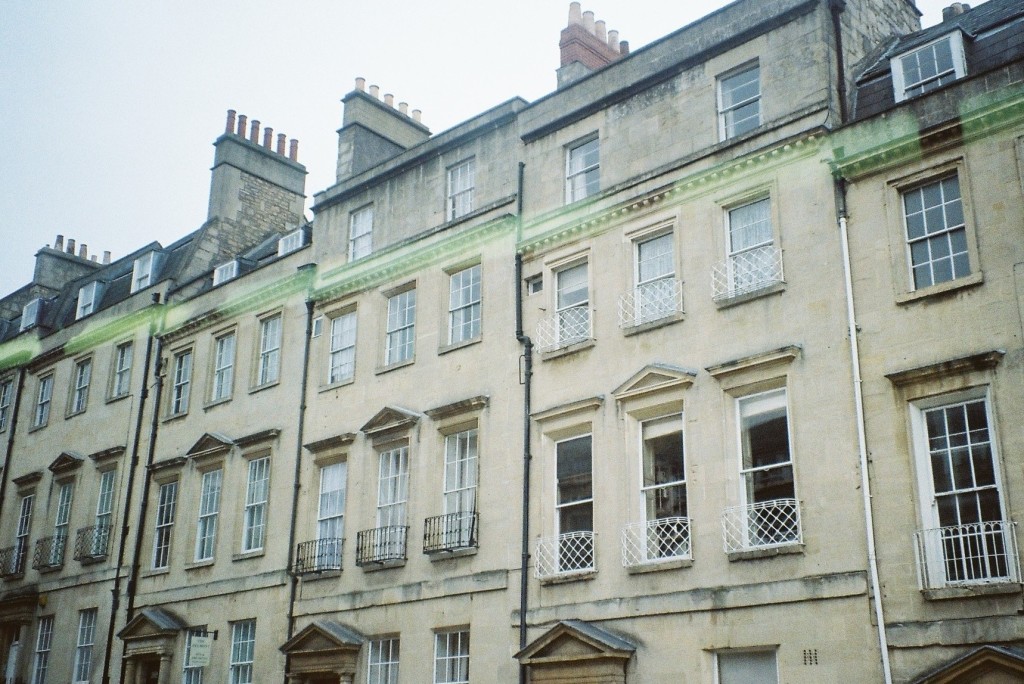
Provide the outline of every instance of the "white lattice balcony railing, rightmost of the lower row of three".
{"type": "Polygon", "coordinates": [[[727,508],[722,531],[726,553],[803,544],[800,504],[796,499],[776,499],[727,508]]]}

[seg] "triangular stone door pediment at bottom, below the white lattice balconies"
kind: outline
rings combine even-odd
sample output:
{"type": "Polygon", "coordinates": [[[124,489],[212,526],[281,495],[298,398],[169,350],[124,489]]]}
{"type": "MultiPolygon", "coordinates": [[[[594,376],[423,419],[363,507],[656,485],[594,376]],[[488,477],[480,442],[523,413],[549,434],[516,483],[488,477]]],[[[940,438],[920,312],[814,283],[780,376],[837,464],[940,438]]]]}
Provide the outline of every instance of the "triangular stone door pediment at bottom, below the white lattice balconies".
{"type": "Polygon", "coordinates": [[[601,659],[624,664],[636,645],[602,628],[578,619],[565,619],[545,632],[516,653],[523,665],[564,666],[601,659]]]}

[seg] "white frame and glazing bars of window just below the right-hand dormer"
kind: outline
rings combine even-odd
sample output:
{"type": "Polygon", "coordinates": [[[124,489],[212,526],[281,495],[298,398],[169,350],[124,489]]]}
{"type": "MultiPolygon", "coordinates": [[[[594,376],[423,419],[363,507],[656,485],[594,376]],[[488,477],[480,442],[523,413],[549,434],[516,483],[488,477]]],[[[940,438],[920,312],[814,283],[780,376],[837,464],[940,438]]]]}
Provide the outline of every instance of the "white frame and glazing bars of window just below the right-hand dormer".
{"type": "MultiPolygon", "coordinates": [[[[906,245],[906,267],[909,274],[909,285],[912,291],[924,290],[927,288],[932,288],[936,286],[942,286],[946,283],[952,283],[964,277],[971,275],[972,259],[971,259],[971,234],[967,226],[967,215],[966,207],[964,201],[964,191],[961,184],[959,172],[958,170],[953,170],[952,173],[942,174],[937,177],[930,178],[922,183],[916,183],[907,187],[900,188],[900,213],[903,217],[903,239],[906,245]],[[953,199],[946,198],[947,191],[951,189],[948,181],[955,181],[956,197],[953,199]],[[925,206],[926,191],[930,188],[937,187],[939,193],[938,205],[931,205],[930,207],[925,206]],[[909,198],[920,194],[920,210],[911,211],[911,207],[908,205],[909,198]],[[930,229],[932,226],[928,225],[928,217],[934,216],[931,210],[939,210],[938,213],[942,215],[941,227],[934,230],[930,229]],[[959,218],[957,223],[955,219],[959,218]],[[914,219],[914,223],[921,221],[920,229],[923,230],[920,236],[910,236],[911,230],[911,216],[920,217],[914,219]],[[952,221],[950,222],[950,219],[952,221]],[[957,250],[955,253],[954,242],[956,241],[955,236],[961,236],[959,240],[962,249],[957,250]],[[941,240],[944,248],[947,250],[948,256],[939,256],[935,258],[932,254],[932,246],[935,245],[934,241],[941,240]],[[923,259],[920,263],[914,261],[914,251],[915,247],[924,246],[927,250],[927,258],[923,259]],[[958,257],[958,258],[957,258],[958,257]],[[949,261],[949,277],[943,279],[941,281],[936,280],[935,264],[949,261]],[[928,283],[918,283],[918,268],[927,267],[927,273],[929,277],[928,283]],[[966,268],[966,271],[964,270],[966,268]]],[[[925,256],[925,255],[922,255],[925,256]]]]}

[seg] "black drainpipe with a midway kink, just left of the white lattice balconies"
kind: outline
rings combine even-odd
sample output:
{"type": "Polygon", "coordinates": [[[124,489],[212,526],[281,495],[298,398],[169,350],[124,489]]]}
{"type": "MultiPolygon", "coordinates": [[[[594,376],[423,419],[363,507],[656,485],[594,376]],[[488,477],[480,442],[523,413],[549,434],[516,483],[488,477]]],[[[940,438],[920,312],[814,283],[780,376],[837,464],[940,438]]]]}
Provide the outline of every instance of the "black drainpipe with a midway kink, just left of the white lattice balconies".
{"type": "MultiPolygon", "coordinates": [[[[516,191],[516,236],[522,234],[522,185],[526,165],[519,162],[518,188],[516,191]]],[[[522,332],[522,254],[515,255],[515,339],[522,344],[523,398],[522,398],[522,555],[519,564],[519,650],[526,647],[526,598],[528,596],[527,570],[529,568],[529,453],[530,422],[529,399],[534,377],[534,343],[522,332]]],[[[519,664],[519,682],[526,682],[526,667],[519,664]]]]}

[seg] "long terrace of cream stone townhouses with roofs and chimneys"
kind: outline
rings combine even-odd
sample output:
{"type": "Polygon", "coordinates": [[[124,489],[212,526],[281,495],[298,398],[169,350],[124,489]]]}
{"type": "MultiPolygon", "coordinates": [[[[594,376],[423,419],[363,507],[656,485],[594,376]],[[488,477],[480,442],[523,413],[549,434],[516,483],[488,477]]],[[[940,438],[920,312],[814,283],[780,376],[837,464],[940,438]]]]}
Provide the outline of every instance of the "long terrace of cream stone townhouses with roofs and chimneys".
{"type": "Polygon", "coordinates": [[[738,0],[0,302],[9,681],[1024,673],[1024,10],[738,0]],[[87,429],[80,429],[82,427],[87,429]]]}

